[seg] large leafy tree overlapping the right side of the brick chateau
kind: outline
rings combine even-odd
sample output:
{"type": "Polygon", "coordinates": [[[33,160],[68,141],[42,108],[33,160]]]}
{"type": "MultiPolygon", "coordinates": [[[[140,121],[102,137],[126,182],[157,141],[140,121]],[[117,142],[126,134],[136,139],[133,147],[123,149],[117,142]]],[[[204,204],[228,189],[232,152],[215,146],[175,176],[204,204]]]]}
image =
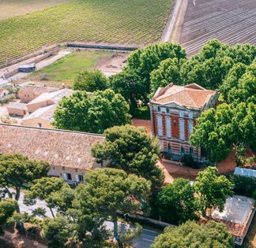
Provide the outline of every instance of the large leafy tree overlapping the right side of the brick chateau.
{"type": "MultiPolygon", "coordinates": [[[[235,147],[256,150],[256,105],[241,102],[238,105],[223,103],[208,109],[197,119],[190,143],[205,149],[212,163],[223,160],[235,147]]],[[[236,154],[238,156],[238,154],[236,154]]]]}

